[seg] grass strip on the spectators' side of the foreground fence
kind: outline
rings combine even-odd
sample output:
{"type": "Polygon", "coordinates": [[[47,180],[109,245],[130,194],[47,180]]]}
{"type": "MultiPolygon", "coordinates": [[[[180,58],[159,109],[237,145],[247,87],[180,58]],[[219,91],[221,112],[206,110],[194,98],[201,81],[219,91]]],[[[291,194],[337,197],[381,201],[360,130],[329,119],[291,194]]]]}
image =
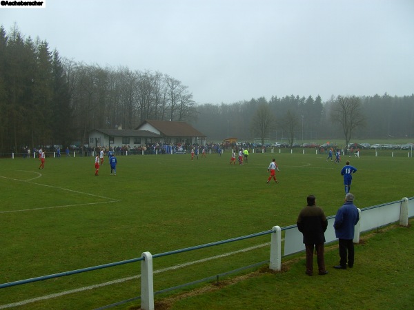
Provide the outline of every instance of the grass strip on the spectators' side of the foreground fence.
{"type": "Polygon", "coordinates": [[[326,276],[306,276],[302,255],[284,260],[282,272],[262,268],[161,300],[156,309],[412,309],[413,249],[412,226],[386,227],[362,236],[353,269],[333,269],[339,256],[331,245],[326,276]]]}

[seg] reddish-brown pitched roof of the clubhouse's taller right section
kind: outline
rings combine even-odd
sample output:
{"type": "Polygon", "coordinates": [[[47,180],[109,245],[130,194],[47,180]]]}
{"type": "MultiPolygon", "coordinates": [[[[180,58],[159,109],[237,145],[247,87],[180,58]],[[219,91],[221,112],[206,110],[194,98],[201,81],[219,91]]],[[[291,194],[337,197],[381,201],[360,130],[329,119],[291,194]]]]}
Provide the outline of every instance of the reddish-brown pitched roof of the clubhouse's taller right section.
{"type": "Polygon", "coordinates": [[[170,121],[152,121],[147,120],[141,123],[137,127],[137,130],[148,123],[152,127],[155,127],[162,136],[199,136],[205,137],[206,135],[196,130],[193,126],[186,122],[170,122],[170,121]]]}

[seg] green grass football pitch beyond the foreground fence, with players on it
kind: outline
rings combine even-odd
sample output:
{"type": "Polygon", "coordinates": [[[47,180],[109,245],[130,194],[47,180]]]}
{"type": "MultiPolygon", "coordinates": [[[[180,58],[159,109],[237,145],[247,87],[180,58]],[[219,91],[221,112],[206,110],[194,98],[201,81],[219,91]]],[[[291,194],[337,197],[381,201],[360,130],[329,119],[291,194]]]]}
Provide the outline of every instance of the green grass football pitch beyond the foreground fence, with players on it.
{"type": "MultiPolygon", "coordinates": [[[[302,149],[295,149],[293,154],[289,149],[275,152],[250,154],[243,166],[229,165],[230,152],[208,154],[208,158],[194,161],[190,155],[117,156],[117,176],[110,176],[108,158],[99,176],[94,176],[93,157],[47,158],[44,170],[38,169],[39,161],[33,158],[3,158],[0,282],[128,260],[144,251],[159,254],[193,247],[266,231],[275,225],[293,225],[308,194],[317,196],[327,216],[334,215],[344,200],[339,172],[346,159],[358,169],[351,188],[357,207],[414,196],[414,160],[404,151],[393,151],[393,157],[385,150],[377,157],[372,151],[361,152],[359,159],[343,156],[340,165],[326,162],[326,155],[314,150],[306,150],[306,154],[302,149]],[[267,167],[273,156],[280,169],[279,184],[267,185],[267,167]]],[[[168,269],[269,240],[270,236],[263,236],[158,258],[154,269],[168,269]]],[[[155,291],[267,260],[268,252],[268,247],[258,247],[168,269],[155,275],[155,291]]],[[[0,308],[2,304],[122,279],[20,306],[94,309],[139,296],[139,274],[137,262],[9,287],[0,291],[0,308]]],[[[302,280],[302,272],[299,274],[302,280]]],[[[177,291],[157,298],[174,293],[177,291]]]]}

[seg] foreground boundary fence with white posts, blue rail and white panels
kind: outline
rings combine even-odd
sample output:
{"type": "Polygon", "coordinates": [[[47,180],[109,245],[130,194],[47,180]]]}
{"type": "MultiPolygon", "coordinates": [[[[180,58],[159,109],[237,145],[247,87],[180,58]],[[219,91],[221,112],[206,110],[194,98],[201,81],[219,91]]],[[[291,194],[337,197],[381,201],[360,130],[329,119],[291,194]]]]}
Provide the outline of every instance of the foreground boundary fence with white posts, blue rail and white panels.
{"type": "MultiPolygon", "coordinates": [[[[384,203],[382,205],[375,205],[373,207],[366,207],[364,209],[358,209],[359,211],[359,222],[355,226],[355,238],[354,242],[359,242],[359,236],[364,231],[370,231],[372,229],[382,227],[384,225],[388,225],[391,223],[400,223],[402,226],[408,226],[408,218],[412,218],[414,216],[414,197],[411,198],[402,198],[401,200],[394,201],[391,203],[384,203]]],[[[335,220],[335,216],[328,216],[328,229],[325,232],[326,243],[335,242],[337,239],[335,238],[335,231],[333,229],[333,222],[335,220]]],[[[262,231],[256,234],[237,237],[228,240],[221,240],[217,242],[208,243],[206,245],[198,245],[195,247],[189,247],[186,249],[179,249],[175,251],[170,251],[162,254],[155,254],[152,255],[150,252],[146,251],[142,253],[141,257],[139,258],[132,258],[130,260],[123,260],[121,262],[112,262],[106,265],[99,265],[95,267],[88,267],[84,269],[77,269],[72,271],[66,271],[62,273],[55,273],[48,276],[41,276],[37,278],[30,278],[26,280],[19,280],[14,282],[8,282],[0,284],[0,289],[6,287],[12,287],[17,285],[23,285],[30,282],[37,282],[41,280],[47,280],[51,278],[59,278],[61,276],[69,276],[76,273],[82,273],[86,271],[93,271],[97,269],[103,269],[108,267],[115,267],[118,265],[128,264],[130,262],[138,262],[141,261],[141,296],[137,298],[132,298],[130,300],[124,300],[121,302],[117,302],[116,304],[110,304],[108,306],[102,307],[100,309],[107,309],[109,307],[124,304],[126,302],[141,299],[141,309],[142,310],[154,310],[154,278],[153,278],[153,269],[152,269],[152,260],[154,258],[159,258],[161,256],[168,256],[173,254],[179,254],[185,251],[193,251],[195,249],[202,249],[205,247],[212,247],[217,245],[222,245],[228,242],[235,242],[239,240],[245,240],[248,238],[255,238],[258,236],[264,236],[266,234],[271,234],[270,240],[270,258],[265,262],[258,262],[255,265],[250,265],[247,267],[243,267],[242,269],[246,269],[248,267],[255,267],[259,265],[263,265],[268,263],[269,268],[279,271],[282,268],[282,257],[288,256],[290,254],[295,254],[301,251],[304,251],[305,247],[302,242],[302,233],[297,230],[296,225],[290,225],[288,227],[279,227],[274,226],[272,229],[268,231],[262,231]],[[285,232],[284,239],[282,240],[282,231],[285,232]],[[284,241],[284,253],[282,256],[282,241],[284,241]]],[[[240,269],[238,269],[240,270],[240,269]]],[[[229,271],[228,273],[232,273],[229,271]]],[[[227,274],[228,274],[227,273],[227,274]]],[[[213,278],[213,277],[210,277],[213,278]]],[[[208,278],[208,280],[210,280],[208,278]]],[[[196,282],[202,282],[203,280],[197,280],[196,282]]],[[[191,284],[191,283],[190,283],[191,284]]],[[[188,284],[189,285],[189,284],[188,284]]],[[[180,285],[179,287],[184,287],[186,285],[180,285]]],[[[175,289],[175,287],[170,289],[164,289],[164,291],[175,289]]]]}

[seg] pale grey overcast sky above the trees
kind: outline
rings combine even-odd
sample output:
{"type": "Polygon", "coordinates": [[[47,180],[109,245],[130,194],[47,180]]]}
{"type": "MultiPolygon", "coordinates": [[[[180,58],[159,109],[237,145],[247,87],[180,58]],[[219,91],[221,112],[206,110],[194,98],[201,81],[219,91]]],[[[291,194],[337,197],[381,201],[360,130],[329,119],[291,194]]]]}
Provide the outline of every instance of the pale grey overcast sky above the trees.
{"type": "Polygon", "coordinates": [[[168,74],[196,103],[414,93],[413,0],[46,0],[0,8],[14,22],[74,61],[168,74]]]}

